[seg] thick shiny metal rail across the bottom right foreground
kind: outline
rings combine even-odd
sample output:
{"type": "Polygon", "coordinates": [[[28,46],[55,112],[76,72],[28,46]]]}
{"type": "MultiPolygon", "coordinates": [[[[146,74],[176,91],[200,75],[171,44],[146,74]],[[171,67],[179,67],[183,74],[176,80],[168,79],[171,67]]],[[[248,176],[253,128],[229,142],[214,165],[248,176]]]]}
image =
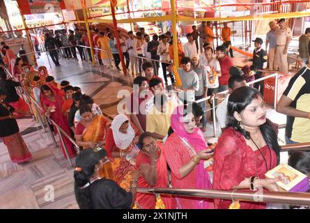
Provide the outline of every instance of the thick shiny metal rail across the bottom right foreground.
{"type": "Polygon", "coordinates": [[[171,188],[138,188],[137,192],[146,194],[171,194],[174,196],[201,197],[264,203],[282,203],[293,206],[310,206],[309,193],[245,191],[245,190],[194,190],[171,188]]]}

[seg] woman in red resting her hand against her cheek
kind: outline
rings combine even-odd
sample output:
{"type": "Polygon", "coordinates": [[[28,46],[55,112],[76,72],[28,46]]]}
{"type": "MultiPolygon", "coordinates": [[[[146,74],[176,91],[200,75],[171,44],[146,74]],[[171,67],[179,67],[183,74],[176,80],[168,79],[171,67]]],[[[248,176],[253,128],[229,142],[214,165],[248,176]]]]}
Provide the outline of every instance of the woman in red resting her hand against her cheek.
{"type": "MultiPolygon", "coordinates": [[[[168,171],[164,148],[160,141],[154,139],[150,132],[144,132],[139,137],[141,151],[137,155],[136,169],[142,172],[138,179],[141,188],[168,188],[168,171]]],[[[170,195],[161,195],[163,206],[157,208],[174,209],[170,195]]],[[[139,209],[155,209],[157,199],[154,194],[137,193],[136,206],[139,209]]],[[[158,202],[160,203],[160,202],[158,202]]]]}

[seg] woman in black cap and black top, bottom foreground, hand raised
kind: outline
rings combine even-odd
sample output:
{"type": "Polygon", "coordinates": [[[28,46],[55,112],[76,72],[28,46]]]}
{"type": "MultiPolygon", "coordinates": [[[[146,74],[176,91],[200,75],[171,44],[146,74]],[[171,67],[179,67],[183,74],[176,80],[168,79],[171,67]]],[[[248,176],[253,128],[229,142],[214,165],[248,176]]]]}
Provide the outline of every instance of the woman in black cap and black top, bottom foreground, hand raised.
{"type": "Polygon", "coordinates": [[[126,192],[113,180],[102,177],[102,167],[107,161],[107,151],[100,147],[86,148],[77,155],[74,177],[79,208],[129,209],[134,204],[139,171],[132,170],[130,192],[126,192]]]}

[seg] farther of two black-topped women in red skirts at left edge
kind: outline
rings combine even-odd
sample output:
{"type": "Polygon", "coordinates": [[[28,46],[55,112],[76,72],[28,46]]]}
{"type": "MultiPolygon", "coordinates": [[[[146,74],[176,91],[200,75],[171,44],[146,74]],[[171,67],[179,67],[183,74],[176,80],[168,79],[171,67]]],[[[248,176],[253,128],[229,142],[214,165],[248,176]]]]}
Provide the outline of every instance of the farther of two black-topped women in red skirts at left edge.
{"type": "Polygon", "coordinates": [[[15,108],[14,114],[17,118],[20,118],[30,110],[26,102],[17,94],[15,89],[16,86],[21,85],[19,82],[13,82],[13,80],[7,79],[6,72],[0,67],[0,89],[7,95],[6,99],[3,101],[15,108]]]}

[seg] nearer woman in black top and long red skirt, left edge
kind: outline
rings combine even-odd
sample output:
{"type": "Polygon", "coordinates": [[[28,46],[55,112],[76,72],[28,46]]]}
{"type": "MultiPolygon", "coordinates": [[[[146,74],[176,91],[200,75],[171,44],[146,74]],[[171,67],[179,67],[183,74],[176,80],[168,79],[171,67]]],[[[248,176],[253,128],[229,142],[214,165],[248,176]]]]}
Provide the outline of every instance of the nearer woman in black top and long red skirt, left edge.
{"type": "Polygon", "coordinates": [[[0,138],[8,148],[12,162],[27,162],[31,160],[31,153],[20,135],[16,116],[13,114],[15,109],[3,102],[5,99],[6,93],[0,89],[0,138]]]}

